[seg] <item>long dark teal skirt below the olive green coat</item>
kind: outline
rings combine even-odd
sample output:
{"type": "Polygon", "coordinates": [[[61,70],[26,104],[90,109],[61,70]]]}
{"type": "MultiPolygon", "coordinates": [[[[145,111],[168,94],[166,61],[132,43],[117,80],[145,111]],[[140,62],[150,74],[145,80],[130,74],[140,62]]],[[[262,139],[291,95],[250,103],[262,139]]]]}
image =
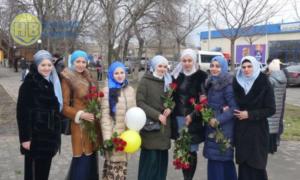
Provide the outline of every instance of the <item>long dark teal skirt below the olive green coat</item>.
{"type": "Polygon", "coordinates": [[[164,180],[168,162],[167,150],[141,148],[138,163],[138,180],[164,180]]]}

